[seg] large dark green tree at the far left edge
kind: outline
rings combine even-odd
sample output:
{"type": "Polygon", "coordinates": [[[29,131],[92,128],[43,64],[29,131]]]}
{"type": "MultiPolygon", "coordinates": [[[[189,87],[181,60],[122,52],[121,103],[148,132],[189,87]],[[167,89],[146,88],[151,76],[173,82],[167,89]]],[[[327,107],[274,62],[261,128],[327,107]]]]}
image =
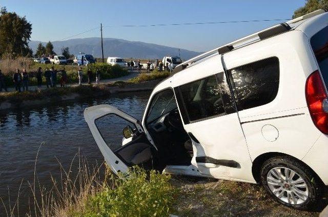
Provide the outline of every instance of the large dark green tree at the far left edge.
{"type": "Polygon", "coordinates": [[[28,41],[32,34],[32,24],[26,17],[8,12],[5,7],[0,9],[0,55],[14,58],[24,54],[28,49],[28,41]]]}

